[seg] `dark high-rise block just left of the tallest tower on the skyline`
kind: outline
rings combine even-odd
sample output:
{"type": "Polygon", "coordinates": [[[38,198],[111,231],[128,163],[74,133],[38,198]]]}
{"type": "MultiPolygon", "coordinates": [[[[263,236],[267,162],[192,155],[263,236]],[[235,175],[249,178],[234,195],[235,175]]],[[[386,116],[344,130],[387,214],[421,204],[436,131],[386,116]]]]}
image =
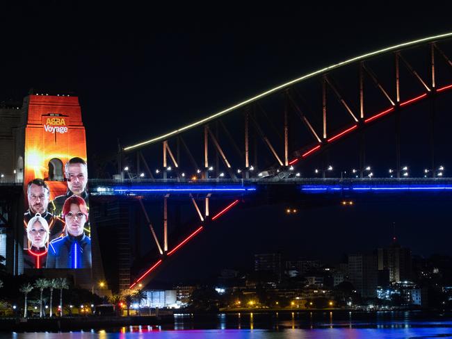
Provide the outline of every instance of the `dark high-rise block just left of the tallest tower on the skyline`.
{"type": "Polygon", "coordinates": [[[348,276],[362,297],[376,297],[378,276],[375,254],[348,254],[348,276]]]}

